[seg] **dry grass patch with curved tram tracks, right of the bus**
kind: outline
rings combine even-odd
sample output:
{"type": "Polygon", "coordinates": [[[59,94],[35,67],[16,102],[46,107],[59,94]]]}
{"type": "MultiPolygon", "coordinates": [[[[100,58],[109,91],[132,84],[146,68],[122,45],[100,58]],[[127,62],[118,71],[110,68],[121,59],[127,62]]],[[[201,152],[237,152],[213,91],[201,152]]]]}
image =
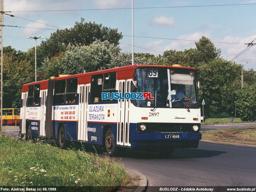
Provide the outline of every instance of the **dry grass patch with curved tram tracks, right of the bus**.
{"type": "Polygon", "coordinates": [[[242,143],[242,144],[252,144],[256,145],[256,130],[244,130],[242,131],[241,129],[248,129],[248,128],[255,128],[255,127],[238,127],[238,128],[226,128],[226,129],[214,129],[210,131],[202,131],[202,139],[207,139],[207,140],[214,140],[214,141],[220,141],[220,142],[229,142],[229,143],[242,143]],[[241,131],[241,132],[239,132],[241,131]],[[233,137],[233,133],[236,133],[236,138],[233,137]],[[219,136],[219,133],[223,136],[228,136],[228,137],[221,137],[219,136]],[[255,141],[250,141],[250,139],[255,139],[255,141]]]}

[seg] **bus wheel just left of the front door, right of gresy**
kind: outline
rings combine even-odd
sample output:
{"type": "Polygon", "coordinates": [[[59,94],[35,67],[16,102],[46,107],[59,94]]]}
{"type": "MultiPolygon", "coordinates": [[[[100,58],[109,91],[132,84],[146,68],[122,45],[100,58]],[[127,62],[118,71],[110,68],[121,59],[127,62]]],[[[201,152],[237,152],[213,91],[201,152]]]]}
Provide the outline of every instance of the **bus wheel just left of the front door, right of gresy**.
{"type": "Polygon", "coordinates": [[[114,142],[114,134],[112,128],[108,128],[105,134],[104,146],[107,154],[114,156],[117,153],[117,147],[114,142]]]}

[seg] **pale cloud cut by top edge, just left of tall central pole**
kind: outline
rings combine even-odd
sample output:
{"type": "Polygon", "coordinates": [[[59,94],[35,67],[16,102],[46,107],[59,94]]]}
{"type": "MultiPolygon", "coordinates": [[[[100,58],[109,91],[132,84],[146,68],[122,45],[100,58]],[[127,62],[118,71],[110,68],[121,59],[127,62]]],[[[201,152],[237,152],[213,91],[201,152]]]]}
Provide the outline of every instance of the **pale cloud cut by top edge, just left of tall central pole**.
{"type": "Polygon", "coordinates": [[[119,8],[130,2],[130,0],[96,0],[94,6],[98,9],[119,8]]]}

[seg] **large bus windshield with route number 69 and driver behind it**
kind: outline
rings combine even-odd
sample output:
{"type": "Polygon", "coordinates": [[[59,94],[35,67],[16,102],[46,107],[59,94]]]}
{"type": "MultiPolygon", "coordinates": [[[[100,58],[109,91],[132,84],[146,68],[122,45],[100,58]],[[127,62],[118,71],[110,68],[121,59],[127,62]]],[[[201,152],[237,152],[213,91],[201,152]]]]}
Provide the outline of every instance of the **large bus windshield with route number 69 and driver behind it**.
{"type": "Polygon", "coordinates": [[[195,70],[137,68],[135,80],[138,81],[138,93],[151,93],[151,97],[154,97],[154,99],[133,100],[136,106],[199,108],[195,70]]]}

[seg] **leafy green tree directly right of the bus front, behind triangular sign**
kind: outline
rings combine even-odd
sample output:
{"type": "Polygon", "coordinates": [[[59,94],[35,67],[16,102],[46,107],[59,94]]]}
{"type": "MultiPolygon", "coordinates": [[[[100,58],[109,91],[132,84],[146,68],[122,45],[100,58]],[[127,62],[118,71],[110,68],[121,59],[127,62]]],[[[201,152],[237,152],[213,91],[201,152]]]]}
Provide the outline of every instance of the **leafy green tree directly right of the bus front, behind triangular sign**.
{"type": "Polygon", "coordinates": [[[212,117],[225,112],[230,114],[235,108],[236,81],[240,78],[242,66],[216,59],[209,63],[201,63],[198,68],[200,82],[199,98],[207,103],[205,114],[212,117]]]}

